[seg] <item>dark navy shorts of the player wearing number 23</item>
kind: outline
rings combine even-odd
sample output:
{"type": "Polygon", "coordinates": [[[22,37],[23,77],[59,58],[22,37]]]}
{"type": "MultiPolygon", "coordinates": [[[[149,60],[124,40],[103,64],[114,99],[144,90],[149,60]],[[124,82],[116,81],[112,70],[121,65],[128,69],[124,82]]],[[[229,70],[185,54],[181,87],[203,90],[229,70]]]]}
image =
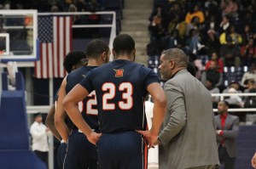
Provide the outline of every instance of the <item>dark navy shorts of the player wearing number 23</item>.
{"type": "Polygon", "coordinates": [[[148,167],[147,145],[142,135],[137,132],[102,133],[96,147],[98,169],[144,169],[148,167]]]}

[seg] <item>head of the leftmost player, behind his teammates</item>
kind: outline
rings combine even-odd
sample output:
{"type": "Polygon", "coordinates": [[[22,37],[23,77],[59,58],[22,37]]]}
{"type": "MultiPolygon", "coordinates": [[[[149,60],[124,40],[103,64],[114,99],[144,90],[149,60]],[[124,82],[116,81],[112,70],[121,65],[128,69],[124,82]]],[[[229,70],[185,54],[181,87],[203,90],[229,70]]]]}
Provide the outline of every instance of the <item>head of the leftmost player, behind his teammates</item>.
{"type": "Polygon", "coordinates": [[[66,55],[63,65],[67,73],[70,73],[72,70],[83,66],[85,62],[86,54],[83,51],[71,51],[66,55]]]}

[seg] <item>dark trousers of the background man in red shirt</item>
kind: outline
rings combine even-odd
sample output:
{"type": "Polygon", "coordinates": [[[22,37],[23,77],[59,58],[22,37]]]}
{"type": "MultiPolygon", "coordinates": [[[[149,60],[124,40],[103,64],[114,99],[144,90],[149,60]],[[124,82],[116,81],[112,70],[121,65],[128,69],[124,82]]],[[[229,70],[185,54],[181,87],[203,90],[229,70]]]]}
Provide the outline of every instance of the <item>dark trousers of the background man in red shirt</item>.
{"type": "Polygon", "coordinates": [[[221,145],[218,147],[218,159],[220,164],[224,163],[224,169],[235,169],[236,157],[230,157],[227,150],[221,145]]]}

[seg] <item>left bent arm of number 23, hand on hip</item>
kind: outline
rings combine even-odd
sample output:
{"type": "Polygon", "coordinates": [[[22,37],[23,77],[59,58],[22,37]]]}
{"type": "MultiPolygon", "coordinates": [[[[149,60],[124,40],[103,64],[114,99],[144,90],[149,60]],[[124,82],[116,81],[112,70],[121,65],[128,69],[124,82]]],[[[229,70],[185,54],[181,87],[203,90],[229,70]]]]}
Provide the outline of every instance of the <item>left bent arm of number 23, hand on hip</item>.
{"type": "Polygon", "coordinates": [[[62,105],[67,111],[70,119],[77,127],[79,127],[82,132],[84,132],[84,135],[86,138],[88,138],[90,143],[96,144],[101,134],[91,130],[90,126],[84,121],[84,118],[81,115],[78,107],[79,102],[86,98],[88,95],[88,91],[80,84],[77,84],[69,93],[67,93],[67,96],[63,100],[62,105]]]}

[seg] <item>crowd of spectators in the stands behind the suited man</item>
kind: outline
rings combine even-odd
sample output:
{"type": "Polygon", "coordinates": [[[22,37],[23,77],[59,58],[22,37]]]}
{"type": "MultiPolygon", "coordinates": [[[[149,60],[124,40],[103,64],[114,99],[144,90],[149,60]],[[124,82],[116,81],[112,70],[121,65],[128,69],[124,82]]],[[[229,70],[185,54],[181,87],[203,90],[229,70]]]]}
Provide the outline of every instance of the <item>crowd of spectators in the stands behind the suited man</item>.
{"type": "MultiPolygon", "coordinates": [[[[155,0],[148,63],[167,48],[181,48],[211,93],[255,93],[255,16],[255,0],[155,0]]],[[[234,108],[255,108],[253,99],[226,97],[234,108]]],[[[216,108],[219,97],[212,101],[216,108]]]]}

